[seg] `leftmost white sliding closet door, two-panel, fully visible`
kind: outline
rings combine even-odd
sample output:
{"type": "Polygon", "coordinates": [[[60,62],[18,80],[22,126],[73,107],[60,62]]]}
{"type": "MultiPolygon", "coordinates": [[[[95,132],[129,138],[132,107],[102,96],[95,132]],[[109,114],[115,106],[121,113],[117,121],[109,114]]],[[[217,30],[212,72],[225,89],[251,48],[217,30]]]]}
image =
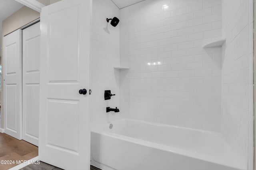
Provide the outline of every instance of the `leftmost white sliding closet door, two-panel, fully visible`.
{"type": "Polygon", "coordinates": [[[4,37],[4,132],[22,139],[22,54],[21,30],[4,37]]]}

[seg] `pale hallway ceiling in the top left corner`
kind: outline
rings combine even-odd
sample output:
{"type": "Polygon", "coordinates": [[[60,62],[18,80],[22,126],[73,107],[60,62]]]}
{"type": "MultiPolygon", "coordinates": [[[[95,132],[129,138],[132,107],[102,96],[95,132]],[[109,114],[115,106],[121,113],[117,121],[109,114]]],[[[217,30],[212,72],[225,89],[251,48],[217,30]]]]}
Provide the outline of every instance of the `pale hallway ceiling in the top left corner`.
{"type": "MultiPolygon", "coordinates": [[[[22,6],[22,4],[16,2],[15,0],[0,0],[0,37],[2,37],[2,21],[19,10],[22,6]]],[[[0,47],[2,47],[2,41],[0,41],[0,47]]]]}

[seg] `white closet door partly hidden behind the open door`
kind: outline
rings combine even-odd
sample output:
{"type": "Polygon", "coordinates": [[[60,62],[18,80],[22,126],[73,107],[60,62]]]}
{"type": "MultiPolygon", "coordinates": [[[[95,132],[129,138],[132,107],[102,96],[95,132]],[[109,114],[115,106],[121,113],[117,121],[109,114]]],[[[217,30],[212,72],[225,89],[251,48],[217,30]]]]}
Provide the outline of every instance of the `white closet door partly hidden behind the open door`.
{"type": "Polygon", "coordinates": [[[23,140],[38,146],[40,23],[22,30],[23,140]]]}

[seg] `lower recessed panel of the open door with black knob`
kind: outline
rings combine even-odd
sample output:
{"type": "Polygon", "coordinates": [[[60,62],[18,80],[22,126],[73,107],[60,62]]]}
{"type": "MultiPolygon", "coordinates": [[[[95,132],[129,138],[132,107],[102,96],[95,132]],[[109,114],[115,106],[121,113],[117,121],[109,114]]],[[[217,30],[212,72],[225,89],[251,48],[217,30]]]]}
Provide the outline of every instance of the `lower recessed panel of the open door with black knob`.
{"type": "Polygon", "coordinates": [[[74,152],[78,154],[78,113],[79,113],[79,101],[76,100],[56,100],[48,99],[48,119],[50,122],[48,125],[48,145],[55,145],[57,149],[64,149],[67,152],[74,152]],[[58,110],[58,112],[56,112],[58,110]],[[69,113],[74,113],[70,116],[69,113]],[[56,124],[54,122],[62,122],[56,124]],[[72,126],[70,126],[72,125],[72,126]],[[52,129],[52,130],[51,130],[52,129]],[[63,131],[62,129],[66,129],[63,131]],[[59,138],[69,134],[65,140],[59,140],[59,138]]]}

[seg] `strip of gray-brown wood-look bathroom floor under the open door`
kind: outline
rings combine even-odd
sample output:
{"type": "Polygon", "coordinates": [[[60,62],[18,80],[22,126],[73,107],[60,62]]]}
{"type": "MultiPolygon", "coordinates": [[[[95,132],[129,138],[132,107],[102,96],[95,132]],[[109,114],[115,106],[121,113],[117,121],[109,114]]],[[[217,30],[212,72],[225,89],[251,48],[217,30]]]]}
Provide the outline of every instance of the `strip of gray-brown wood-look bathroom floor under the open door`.
{"type": "MultiPolygon", "coordinates": [[[[40,164],[30,164],[30,165],[25,166],[24,168],[22,168],[20,170],[62,170],[62,169],[40,161],[40,164]]],[[[91,165],[90,170],[101,170],[101,169],[96,168],[96,167],[91,165]]]]}

